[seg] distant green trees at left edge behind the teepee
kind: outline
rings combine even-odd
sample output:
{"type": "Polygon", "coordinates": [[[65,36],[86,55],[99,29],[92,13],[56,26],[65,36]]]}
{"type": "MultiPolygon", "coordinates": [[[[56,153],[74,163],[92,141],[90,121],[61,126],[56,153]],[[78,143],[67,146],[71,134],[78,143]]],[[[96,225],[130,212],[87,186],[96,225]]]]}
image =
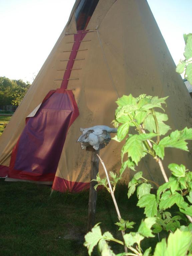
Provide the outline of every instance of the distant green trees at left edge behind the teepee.
{"type": "Polygon", "coordinates": [[[22,79],[11,80],[7,77],[0,77],[0,110],[6,110],[7,105],[18,106],[25,96],[29,82],[22,79]]]}

